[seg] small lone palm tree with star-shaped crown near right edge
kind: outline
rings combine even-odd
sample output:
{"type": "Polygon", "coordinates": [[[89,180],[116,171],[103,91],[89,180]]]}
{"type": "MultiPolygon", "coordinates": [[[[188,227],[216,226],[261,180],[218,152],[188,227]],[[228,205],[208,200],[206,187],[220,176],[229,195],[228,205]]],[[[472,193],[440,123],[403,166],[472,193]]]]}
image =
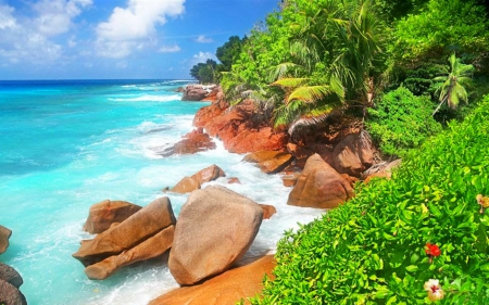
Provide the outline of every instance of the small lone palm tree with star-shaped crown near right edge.
{"type": "Polygon", "coordinates": [[[432,112],[432,115],[438,112],[444,102],[448,103],[449,107],[456,109],[460,101],[464,101],[465,103],[468,101],[468,93],[465,87],[472,81],[474,66],[461,63],[460,59],[455,56],[455,53],[450,55],[449,62],[450,72],[447,67],[444,67],[448,75],[434,78],[434,80],[442,82],[439,84],[436,91],[436,93],[440,92],[440,103],[432,112]]]}

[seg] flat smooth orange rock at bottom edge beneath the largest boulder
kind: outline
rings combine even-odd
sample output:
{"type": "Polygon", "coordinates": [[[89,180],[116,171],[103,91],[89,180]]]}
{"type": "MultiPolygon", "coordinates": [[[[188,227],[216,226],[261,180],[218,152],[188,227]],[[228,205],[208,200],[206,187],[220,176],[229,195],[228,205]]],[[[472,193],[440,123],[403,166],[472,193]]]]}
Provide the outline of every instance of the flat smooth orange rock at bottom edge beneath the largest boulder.
{"type": "MultiPolygon", "coordinates": [[[[263,289],[263,277],[275,267],[273,255],[264,256],[250,265],[224,272],[202,284],[184,287],[171,291],[149,303],[149,305],[223,305],[236,304],[240,298],[252,297],[263,289]]],[[[244,301],[244,304],[250,304],[244,301]]]]}

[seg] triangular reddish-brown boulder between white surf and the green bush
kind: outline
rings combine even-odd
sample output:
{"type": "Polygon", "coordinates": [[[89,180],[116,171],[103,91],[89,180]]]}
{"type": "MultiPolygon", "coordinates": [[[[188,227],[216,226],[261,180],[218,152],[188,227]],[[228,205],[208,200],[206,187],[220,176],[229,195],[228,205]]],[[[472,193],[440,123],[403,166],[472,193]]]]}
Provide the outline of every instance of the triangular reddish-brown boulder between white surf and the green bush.
{"type": "Polygon", "coordinates": [[[309,157],[287,204],[333,208],[353,196],[350,183],[318,154],[309,157]]]}

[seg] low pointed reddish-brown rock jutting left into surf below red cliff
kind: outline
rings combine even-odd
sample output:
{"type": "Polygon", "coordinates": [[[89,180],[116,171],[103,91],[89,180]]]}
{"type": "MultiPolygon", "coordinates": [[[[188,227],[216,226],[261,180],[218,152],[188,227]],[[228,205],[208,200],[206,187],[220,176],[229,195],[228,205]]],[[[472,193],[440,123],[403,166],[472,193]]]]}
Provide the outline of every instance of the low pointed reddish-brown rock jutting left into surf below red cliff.
{"type": "Polygon", "coordinates": [[[216,148],[211,137],[197,128],[183,137],[184,139],[175,143],[172,148],[158,152],[162,156],[171,156],[173,154],[193,154],[201,151],[213,150],[216,148]]]}

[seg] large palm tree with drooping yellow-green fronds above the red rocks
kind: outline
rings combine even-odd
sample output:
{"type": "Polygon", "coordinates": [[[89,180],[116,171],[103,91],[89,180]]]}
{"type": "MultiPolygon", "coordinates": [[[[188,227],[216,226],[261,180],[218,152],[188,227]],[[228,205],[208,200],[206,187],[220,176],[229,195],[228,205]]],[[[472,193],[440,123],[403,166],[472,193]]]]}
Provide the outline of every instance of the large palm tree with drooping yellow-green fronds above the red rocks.
{"type": "Polygon", "coordinates": [[[272,73],[272,86],[284,90],[284,103],[275,110],[275,125],[322,122],[344,102],[372,102],[371,67],[380,50],[368,0],[326,1],[306,17],[290,43],[293,63],[272,73]]]}

